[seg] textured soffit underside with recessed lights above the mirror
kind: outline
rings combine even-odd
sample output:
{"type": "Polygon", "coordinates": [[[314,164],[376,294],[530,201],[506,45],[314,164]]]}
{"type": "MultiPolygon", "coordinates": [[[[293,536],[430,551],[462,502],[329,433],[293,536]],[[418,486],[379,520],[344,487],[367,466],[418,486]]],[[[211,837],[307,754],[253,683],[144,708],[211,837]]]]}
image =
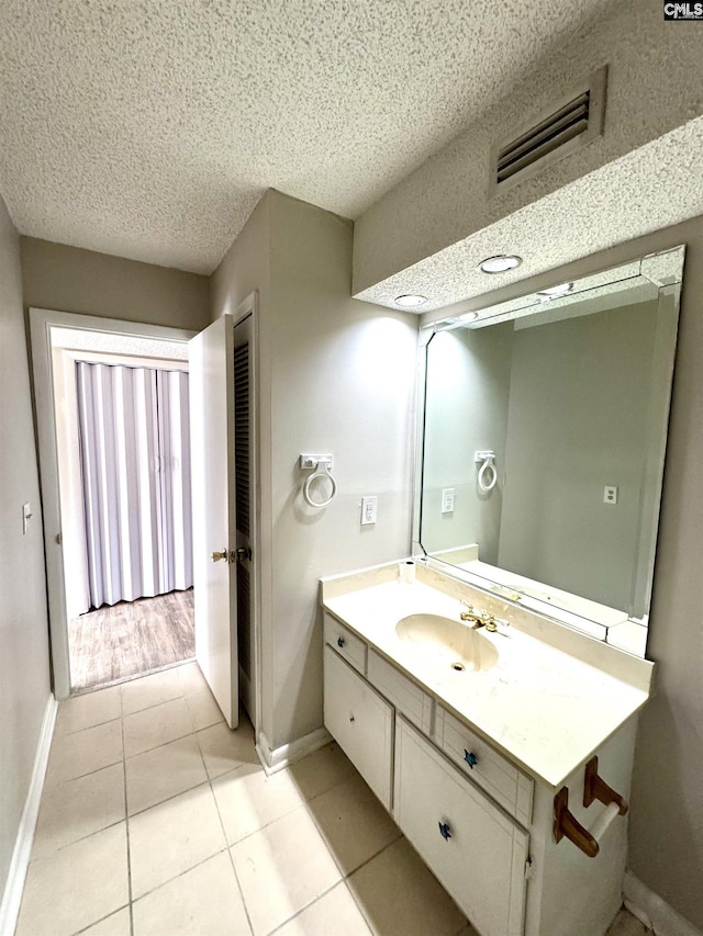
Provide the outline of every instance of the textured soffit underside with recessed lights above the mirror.
{"type": "Polygon", "coordinates": [[[481,296],[495,289],[703,215],[701,153],[703,117],[698,117],[356,297],[398,308],[395,296],[419,293],[428,302],[409,309],[417,313],[481,308],[481,296]],[[522,266],[494,275],[481,272],[481,260],[506,252],[521,256],[522,266]],[[446,308],[455,304],[460,307],[446,308]]]}

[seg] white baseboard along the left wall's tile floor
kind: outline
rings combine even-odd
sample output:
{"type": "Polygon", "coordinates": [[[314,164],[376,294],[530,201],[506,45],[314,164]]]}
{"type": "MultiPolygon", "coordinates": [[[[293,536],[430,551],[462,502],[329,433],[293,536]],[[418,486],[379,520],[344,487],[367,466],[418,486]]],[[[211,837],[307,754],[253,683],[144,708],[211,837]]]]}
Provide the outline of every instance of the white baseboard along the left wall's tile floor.
{"type": "Polygon", "coordinates": [[[34,831],[40,814],[42,790],[44,789],[44,778],[46,777],[46,766],[48,764],[48,752],[52,747],[52,738],[54,737],[57,709],[58,702],[54,696],[49,696],[44,710],[44,720],[36,745],[36,754],[34,755],[32,779],[30,780],[18,837],[15,838],[12,852],[12,860],[10,861],[10,870],[8,871],[8,880],[4,886],[2,903],[0,904],[0,936],[12,936],[18,925],[22,892],[24,890],[26,870],[30,865],[32,843],[34,842],[34,831]]]}

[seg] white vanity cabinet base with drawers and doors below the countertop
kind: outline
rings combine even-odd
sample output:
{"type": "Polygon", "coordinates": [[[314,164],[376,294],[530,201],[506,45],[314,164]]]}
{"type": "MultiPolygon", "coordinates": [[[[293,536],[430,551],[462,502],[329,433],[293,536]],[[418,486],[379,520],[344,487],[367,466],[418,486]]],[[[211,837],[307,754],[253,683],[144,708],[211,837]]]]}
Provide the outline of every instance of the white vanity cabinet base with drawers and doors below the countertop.
{"type": "MultiPolygon", "coordinates": [[[[326,610],[324,633],[325,726],[481,936],[603,936],[622,902],[626,820],[607,826],[595,858],[555,842],[557,788],[326,610]]],[[[625,798],[636,723],[593,752],[625,798]]],[[[581,763],[563,786],[591,828],[605,807],[583,805],[583,783],[581,763]]]]}

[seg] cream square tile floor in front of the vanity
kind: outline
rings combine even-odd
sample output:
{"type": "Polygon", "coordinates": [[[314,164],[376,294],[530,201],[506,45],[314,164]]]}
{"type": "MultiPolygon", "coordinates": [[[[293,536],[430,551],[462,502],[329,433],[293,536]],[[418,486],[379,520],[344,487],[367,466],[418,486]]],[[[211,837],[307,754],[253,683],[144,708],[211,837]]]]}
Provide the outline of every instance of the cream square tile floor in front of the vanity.
{"type": "Polygon", "coordinates": [[[274,932],[473,936],[336,745],[266,777],[197,664],[62,702],[16,936],[274,932]]]}

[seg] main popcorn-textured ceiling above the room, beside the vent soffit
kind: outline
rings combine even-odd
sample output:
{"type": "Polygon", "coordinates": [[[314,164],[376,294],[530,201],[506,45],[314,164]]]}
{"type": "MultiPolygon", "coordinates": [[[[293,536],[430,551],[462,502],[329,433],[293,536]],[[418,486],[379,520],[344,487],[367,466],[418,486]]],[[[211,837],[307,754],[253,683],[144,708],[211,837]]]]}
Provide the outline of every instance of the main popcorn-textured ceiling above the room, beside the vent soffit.
{"type": "Polygon", "coordinates": [[[22,234],[209,273],[267,188],[357,217],[616,0],[3,0],[22,234]]]}

